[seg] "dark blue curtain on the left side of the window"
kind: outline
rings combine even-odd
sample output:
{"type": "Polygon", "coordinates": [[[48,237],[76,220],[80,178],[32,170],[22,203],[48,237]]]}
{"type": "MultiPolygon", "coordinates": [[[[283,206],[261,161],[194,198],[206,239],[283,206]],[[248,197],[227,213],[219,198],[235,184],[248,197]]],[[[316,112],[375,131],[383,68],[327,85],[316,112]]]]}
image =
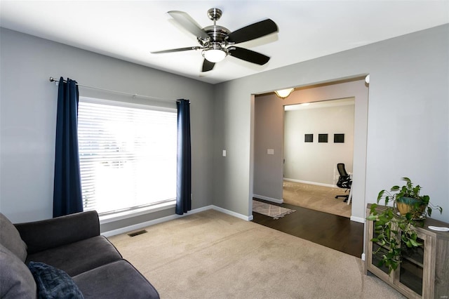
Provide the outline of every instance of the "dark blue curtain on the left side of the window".
{"type": "Polygon", "coordinates": [[[53,217],[83,211],[78,152],[78,86],[62,77],[58,88],[56,119],[53,217]]]}

